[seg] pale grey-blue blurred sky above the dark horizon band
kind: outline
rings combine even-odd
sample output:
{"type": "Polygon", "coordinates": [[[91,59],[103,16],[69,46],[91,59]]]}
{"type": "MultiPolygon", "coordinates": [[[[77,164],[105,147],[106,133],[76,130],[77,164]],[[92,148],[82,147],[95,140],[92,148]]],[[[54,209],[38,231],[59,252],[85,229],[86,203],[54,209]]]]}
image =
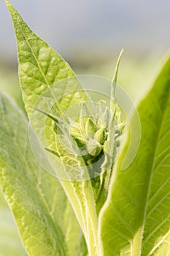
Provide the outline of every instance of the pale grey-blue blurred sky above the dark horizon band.
{"type": "MultiPolygon", "coordinates": [[[[11,0],[36,34],[61,55],[80,51],[160,50],[170,46],[169,0],[11,0]]],[[[16,45],[4,1],[0,1],[0,53],[12,58],[16,45]]]]}

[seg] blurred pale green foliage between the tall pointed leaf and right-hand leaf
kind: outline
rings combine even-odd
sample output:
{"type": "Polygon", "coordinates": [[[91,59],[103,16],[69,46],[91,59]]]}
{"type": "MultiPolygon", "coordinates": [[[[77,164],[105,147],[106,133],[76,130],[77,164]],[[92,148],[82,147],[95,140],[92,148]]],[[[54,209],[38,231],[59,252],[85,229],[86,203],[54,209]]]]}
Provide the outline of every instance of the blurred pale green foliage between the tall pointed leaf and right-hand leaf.
{"type": "MultiPolygon", "coordinates": [[[[73,69],[77,75],[99,75],[104,78],[112,79],[115,70],[117,56],[113,59],[99,59],[92,64],[81,66],[83,60],[73,61],[73,69]]],[[[127,57],[124,51],[120,63],[117,83],[128,92],[129,96],[137,104],[145,92],[150,88],[154,75],[161,64],[159,54],[127,57]]],[[[109,89],[108,89],[109,90],[109,89]]]]}

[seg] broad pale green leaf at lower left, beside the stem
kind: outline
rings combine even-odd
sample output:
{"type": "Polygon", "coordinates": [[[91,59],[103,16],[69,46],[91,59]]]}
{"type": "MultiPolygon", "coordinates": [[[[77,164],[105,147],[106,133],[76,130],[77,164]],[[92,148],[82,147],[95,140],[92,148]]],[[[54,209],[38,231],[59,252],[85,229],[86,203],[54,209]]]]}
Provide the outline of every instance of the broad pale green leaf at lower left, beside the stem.
{"type": "Polygon", "coordinates": [[[28,140],[28,122],[4,94],[0,94],[0,116],[0,186],[26,251],[60,256],[86,252],[61,184],[37,164],[28,140]]]}

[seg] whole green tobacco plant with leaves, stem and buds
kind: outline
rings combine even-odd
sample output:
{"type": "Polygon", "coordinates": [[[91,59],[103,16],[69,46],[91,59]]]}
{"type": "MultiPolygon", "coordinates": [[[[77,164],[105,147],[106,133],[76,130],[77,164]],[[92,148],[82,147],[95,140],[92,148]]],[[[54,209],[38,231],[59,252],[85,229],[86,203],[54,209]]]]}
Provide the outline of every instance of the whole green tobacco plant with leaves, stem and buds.
{"type": "Polygon", "coordinates": [[[94,103],[69,64],[6,3],[28,118],[1,92],[0,186],[26,252],[170,255],[169,56],[139,103],[139,149],[122,170],[131,127],[116,100],[120,59],[109,105],[94,103]]]}

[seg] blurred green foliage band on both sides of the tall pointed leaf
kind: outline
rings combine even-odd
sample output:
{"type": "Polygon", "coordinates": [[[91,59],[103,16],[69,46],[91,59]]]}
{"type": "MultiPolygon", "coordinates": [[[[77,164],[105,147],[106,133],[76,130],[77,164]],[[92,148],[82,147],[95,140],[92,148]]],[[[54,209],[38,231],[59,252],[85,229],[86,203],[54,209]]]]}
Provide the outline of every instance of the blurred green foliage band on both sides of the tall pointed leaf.
{"type": "MultiPolygon", "coordinates": [[[[118,56],[118,53],[117,53],[118,56]]],[[[107,59],[90,58],[84,55],[70,59],[69,64],[77,75],[99,75],[112,79],[117,56],[107,59]]],[[[161,63],[160,56],[131,56],[123,53],[118,75],[118,83],[128,92],[134,102],[138,102],[149,89],[154,74],[161,63]]],[[[18,81],[17,65],[7,67],[0,64],[0,90],[7,92],[24,109],[18,81]]],[[[109,91],[109,89],[108,89],[109,91]]]]}

